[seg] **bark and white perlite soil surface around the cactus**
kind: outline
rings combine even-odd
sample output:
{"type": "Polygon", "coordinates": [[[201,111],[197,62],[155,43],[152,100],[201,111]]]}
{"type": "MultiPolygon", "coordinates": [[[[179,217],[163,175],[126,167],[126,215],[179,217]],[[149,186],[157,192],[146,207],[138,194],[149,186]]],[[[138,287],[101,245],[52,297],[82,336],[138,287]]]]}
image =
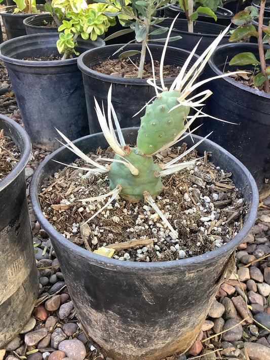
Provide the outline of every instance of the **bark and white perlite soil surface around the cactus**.
{"type": "MultiPolygon", "coordinates": [[[[185,143],[181,148],[169,148],[154,156],[155,162],[169,163],[186,149],[185,143]]],[[[95,160],[100,156],[112,158],[114,154],[111,148],[90,154],[95,160]]],[[[71,167],[44,184],[42,210],[69,241],[90,251],[114,249],[115,259],[156,262],[204,254],[227,243],[241,230],[248,209],[230,179],[232,174],[215,167],[207,154],[201,159],[193,150],[181,162],[196,158],[195,166],[164,177],[165,189],[156,199],[178,236],[146,202],[129,203],[121,196],[94,217],[90,226],[84,224],[107,202],[107,198],[100,202],[87,198],[111,189],[106,174],[85,178],[87,171],[71,167]]],[[[72,165],[87,166],[82,159],[72,165]]]]}

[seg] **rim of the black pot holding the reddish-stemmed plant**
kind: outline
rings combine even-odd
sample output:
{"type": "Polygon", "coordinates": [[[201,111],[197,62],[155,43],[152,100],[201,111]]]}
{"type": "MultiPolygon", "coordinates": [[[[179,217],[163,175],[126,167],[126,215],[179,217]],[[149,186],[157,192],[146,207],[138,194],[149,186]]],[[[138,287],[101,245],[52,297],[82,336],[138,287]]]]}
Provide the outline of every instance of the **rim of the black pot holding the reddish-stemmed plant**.
{"type": "MultiPolygon", "coordinates": [[[[213,54],[211,55],[210,59],[208,60],[208,65],[211,67],[211,69],[216,72],[217,75],[222,75],[224,74],[224,72],[222,72],[221,70],[219,70],[219,68],[215,65],[215,62],[214,62],[214,56],[215,54],[218,52],[218,51],[223,51],[224,54],[227,54],[226,52],[226,48],[234,48],[234,47],[237,47],[237,48],[255,48],[256,49],[258,48],[257,44],[252,44],[252,43],[236,43],[236,44],[223,44],[223,45],[219,45],[215,51],[213,52],[213,54]]],[[[270,46],[264,46],[263,48],[265,49],[270,49],[270,46]]],[[[241,51],[239,51],[240,53],[241,51]]],[[[249,86],[247,85],[244,85],[244,84],[241,84],[239,83],[238,81],[230,78],[229,76],[225,76],[225,77],[222,77],[220,78],[220,80],[222,81],[225,81],[229,84],[232,84],[234,85],[235,87],[241,89],[241,90],[244,90],[244,91],[247,91],[249,93],[252,93],[254,95],[258,95],[258,96],[261,96],[261,97],[264,97],[264,98],[267,98],[267,99],[270,99],[270,94],[266,94],[264,93],[263,91],[260,91],[260,90],[255,90],[255,89],[252,89],[250,88],[249,86]]]]}

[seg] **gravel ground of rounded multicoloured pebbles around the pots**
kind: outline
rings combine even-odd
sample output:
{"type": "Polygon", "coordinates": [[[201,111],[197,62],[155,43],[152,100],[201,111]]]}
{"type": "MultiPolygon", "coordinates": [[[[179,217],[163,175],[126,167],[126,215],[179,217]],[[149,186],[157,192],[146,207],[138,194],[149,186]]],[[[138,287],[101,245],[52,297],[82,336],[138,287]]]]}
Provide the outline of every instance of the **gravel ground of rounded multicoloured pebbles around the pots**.
{"type": "MultiPolygon", "coordinates": [[[[0,112],[21,124],[3,63],[0,63],[0,112]]],[[[48,153],[33,148],[25,174],[27,192],[34,170],[48,153]]],[[[81,330],[50,239],[36,222],[30,202],[29,211],[40,295],[29,323],[6,349],[0,350],[0,360],[106,360],[81,330]]],[[[237,250],[235,272],[220,286],[197,340],[179,360],[270,360],[269,237],[270,196],[260,203],[257,221],[237,250]]]]}

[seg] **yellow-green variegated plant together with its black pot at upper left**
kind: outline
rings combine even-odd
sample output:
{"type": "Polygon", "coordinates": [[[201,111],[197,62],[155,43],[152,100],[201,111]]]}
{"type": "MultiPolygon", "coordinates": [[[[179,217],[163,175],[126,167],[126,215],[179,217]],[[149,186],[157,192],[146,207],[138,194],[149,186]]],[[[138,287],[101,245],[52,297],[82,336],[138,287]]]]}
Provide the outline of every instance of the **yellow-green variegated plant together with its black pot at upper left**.
{"type": "Polygon", "coordinates": [[[113,15],[103,14],[105,9],[110,14],[106,4],[55,0],[52,6],[53,14],[62,21],[59,30],[63,33],[11,39],[0,49],[24,127],[32,143],[47,150],[59,147],[55,127],[72,140],[89,134],[82,74],[74,55],[104,46],[97,35],[115,23],[113,15]]]}

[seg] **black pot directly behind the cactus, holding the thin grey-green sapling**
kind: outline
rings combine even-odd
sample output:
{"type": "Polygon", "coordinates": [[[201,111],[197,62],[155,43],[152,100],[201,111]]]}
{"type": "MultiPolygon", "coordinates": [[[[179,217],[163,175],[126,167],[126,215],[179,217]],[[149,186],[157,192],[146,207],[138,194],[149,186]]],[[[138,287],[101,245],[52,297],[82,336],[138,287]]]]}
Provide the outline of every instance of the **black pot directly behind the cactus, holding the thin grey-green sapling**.
{"type": "MultiPolygon", "coordinates": [[[[82,71],[84,79],[90,134],[101,131],[95,112],[94,97],[99,104],[103,101],[106,108],[107,94],[111,85],[111,101],[114,110],[117,113],[121,128],[140,125],[141,114],[139,113],[134,117],[133,115],[145,106],[146,99],[149,100],[156,95],[155,89],[147,84],[146,79],[117,77],[93,70],[96,65],[106,60],[108,57],[110,57],[110,59],[118,59],[119,53],[113,54],[120,48],[121,45],[108,45],[104,48],[87,51],[78,58],[78,67],[82,71]]],[[[153,59],[160,60],[163,45],[149,45],[149,48],[153,59]]],[[[141,50],[141,45],[130,44],[125,47],[125,51],[128,50],[141,50]]],[[[185,50],[168,47],[164,64],[173,64],[181,67],[188,55],[189,52],[185,50]]],[[[194,55],[190,61],[189,67],[191,67],[191,64],[194,64],[197,59],[198,56],[194,55]]],[[[133,62],[136,62],[137,60],[139,60],[139,55],[132,56],[133,62]]],[[[146,53],[145,61],[150,62],[148,52],[146,53]]],[[[165,78],[165,85],[170,86],[174,79],[175,77],[165,78]]],[[[159,80],[157,81],[157,84],[160,84],[159,80]]]]}

